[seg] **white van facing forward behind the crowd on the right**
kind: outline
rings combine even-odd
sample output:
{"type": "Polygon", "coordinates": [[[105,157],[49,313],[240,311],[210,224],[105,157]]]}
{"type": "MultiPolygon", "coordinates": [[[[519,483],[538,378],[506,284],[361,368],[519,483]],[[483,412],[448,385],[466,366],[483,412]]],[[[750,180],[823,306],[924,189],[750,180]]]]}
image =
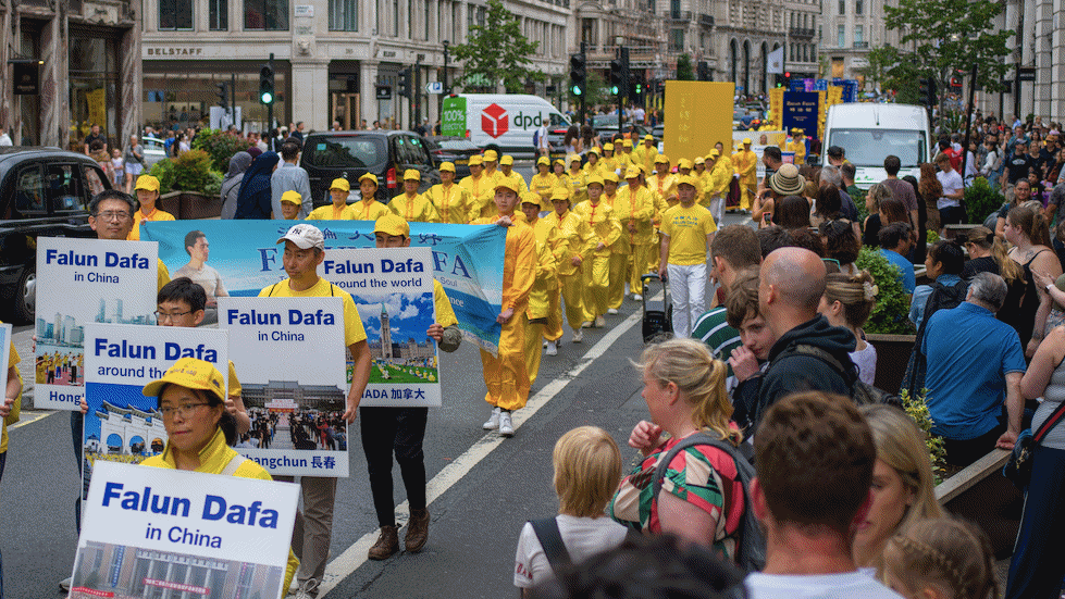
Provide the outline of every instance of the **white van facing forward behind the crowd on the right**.
{"type": "Polygon", "coordinates": [[[920,163],[931,162],[933,155],[928,113],[908,104],[851,102],[829,107],[822,154],[827,157],[832,146],[843,148],[844,157],[854,164],[854,184],[859,189],[888,178],[883,159],[891,154],[902,161],[900,177],[913,175],[918,179],[920,163]]]}

